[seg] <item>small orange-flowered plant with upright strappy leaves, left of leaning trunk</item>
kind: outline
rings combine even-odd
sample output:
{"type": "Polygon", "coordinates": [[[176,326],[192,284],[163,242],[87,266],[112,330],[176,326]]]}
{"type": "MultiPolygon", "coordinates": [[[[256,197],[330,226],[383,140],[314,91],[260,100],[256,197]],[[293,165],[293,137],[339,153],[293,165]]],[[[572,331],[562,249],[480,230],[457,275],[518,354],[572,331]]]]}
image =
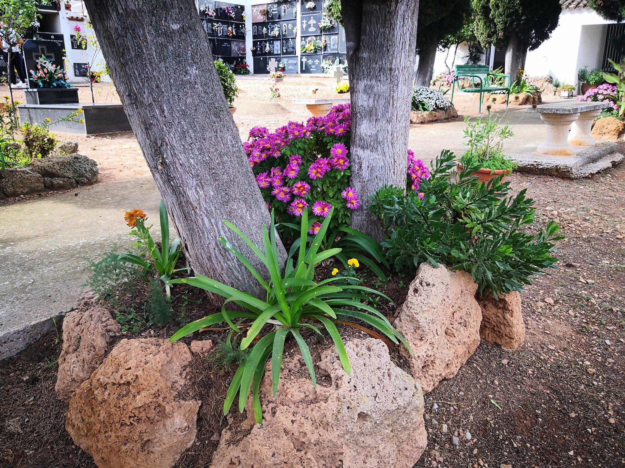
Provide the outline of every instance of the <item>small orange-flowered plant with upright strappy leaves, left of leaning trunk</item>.
{"type": "Polygon", "coordinates": [[[184,270],[184,268],[176,270],[176,263],[178,263],[182,250],[178,248],[180,239],[174,240],[169,245],[169,217],[163,200],[161,200],[159,207],[159,215],[161,220],[161,248],[158,248],[154,243],[150,234],[151,226],[146,226],[146,220],[148,219],[146,213],[138,209],[126,212],[126,215],[124,215],[126,223],[134,228],[130,235],[138,239],[134,246],[138,247],[140,251],[139,255],[129,252],[122,253],[117,260],[141,266],[146,273],[156,268],[159,278],[165,283],[167,296],[169,297],[169,279],[178,271],[184,270]],[[148,256],[149,260],[146,259],[146,256],[148,256]]]}

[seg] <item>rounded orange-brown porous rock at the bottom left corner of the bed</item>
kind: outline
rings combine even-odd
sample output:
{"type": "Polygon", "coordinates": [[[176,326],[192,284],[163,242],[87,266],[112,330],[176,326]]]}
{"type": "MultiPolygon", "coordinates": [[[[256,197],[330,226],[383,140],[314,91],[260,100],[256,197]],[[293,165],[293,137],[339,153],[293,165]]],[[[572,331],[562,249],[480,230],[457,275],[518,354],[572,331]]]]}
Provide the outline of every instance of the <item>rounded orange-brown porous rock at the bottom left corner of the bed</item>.
{"type": "Polygon", "coordinates": [[[69,401],[66,429],[99,468],[169,468],[191,447],[200,402],[184,401],[191,352],[123,339],[69,401]]]}

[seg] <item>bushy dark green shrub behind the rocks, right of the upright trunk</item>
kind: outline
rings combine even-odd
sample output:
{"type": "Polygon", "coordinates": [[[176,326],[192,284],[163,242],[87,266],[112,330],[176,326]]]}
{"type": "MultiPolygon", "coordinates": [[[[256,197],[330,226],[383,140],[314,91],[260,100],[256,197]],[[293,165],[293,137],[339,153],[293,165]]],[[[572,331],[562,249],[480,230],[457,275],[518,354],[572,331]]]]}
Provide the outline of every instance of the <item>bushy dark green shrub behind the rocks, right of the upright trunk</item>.
{"type": "Polygon", "coordinates": [[[509,196],[509,182],[502,175],[487,184],[471,176],[476,170],[462,158],[462,170],[454,172],[456,157],[443,151],[432,163],[431,177],[422,179],[419,190],[383,187],[376,192],[371,212],[386,229],[382,247],[396,270],[414,270],[422,262],[439,263],[471,273],[479,293],[521,291],[524,285],[557,261],[551,255],[554,241],[561,239],[552,222],[536,234],[534,201],[523,189],[509,196]]]}

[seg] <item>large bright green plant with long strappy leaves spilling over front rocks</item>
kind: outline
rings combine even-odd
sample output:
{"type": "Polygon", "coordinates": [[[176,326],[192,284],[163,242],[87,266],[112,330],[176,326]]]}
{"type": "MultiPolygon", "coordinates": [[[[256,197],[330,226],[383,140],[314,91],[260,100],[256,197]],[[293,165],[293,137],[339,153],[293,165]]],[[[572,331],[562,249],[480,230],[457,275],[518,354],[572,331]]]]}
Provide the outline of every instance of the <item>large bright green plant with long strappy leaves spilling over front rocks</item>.
{"type": "Polygon", "coordinates": [[[256,341],[256,337],[260,337],[251,351],[247,353],[246,359],[232,378],[232,383],[226,394],[226,401],[224,401],[224,413],[230,410],[237,393],[239,394],[239,411],[242,412],[251,389],[254,416],[256,416],[257,422],[262,422],[258,388],[264,374],[265,364],[271,356],[272,383],[275,395],[280,376],[282,354],[284,353],[284,342],[289,336],[292,336],[299,346],[304,363],[306,363],[311,374],[312,383],[316,386],[311,353],[301,335],[301,331],[304,329],[312,329],[318,334],[321,334],[320,329],[325,329],[329,333],[336,345],[342,367],[348,375],[351,375],[351,367],[341,335],[336,328],[336,321],[357,319],[376,328],[394,343],[401,341],[408,347],[406,340],[393,328],[384,315],[361,301],[367,299],[366,293],[387,298],[382,293],[365,286],[350,285],[349,292],[338,286],[333,286],[332,283],[343,279],[341,276],[332,276],[318,283],[314,281],[315,266],[341,252],[340,248],[319,251],[321,241],[332,217],[332,210],[307,250],[306,226],[308,223],[307,210],[304,210],[297,263],[294,263],[292,259],[287,261],[284,273],[281,273],[274,229],[270,229],[269,234],[267,234],[266,227],[262,226],[263,253],[232,223],[224,222],[227,227],[245,241],[269,271],[270,279],[265,281],[241,252],[222,238],[222,245],[236,255],[266,290],[264,300],[211,280],[211,278],[206,278],[206,276],[196,275],[193,278],[171,280],[171,283],[186,283],[226,298],[221,313],[212,314],[188,324],[176,332],[171,341],[176,341],[201,328],[223,321],[229,324],[235,333],[243,333],[244,330],[247,330],[242,335],[240,344],[242,350],[247,349],[252,342],[256,341]],[[238,310],[229,310],[230,308],[238,310]]]}

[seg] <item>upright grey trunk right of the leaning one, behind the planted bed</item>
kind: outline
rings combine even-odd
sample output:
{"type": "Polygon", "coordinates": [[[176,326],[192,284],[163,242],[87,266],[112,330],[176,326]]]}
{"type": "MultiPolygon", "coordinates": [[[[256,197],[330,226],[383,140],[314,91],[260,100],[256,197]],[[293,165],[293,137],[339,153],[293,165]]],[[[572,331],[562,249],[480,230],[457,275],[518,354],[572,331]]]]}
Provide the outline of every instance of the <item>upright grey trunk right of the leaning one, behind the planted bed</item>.
{"type": "Polygon", "coordinates": [[[352,227],[376,238],[369,212],[383,185],[406,186],[406,152],[417,40],[417,0],[341,0],[352,105],[352,185],[362,206],[352,227]]]}

